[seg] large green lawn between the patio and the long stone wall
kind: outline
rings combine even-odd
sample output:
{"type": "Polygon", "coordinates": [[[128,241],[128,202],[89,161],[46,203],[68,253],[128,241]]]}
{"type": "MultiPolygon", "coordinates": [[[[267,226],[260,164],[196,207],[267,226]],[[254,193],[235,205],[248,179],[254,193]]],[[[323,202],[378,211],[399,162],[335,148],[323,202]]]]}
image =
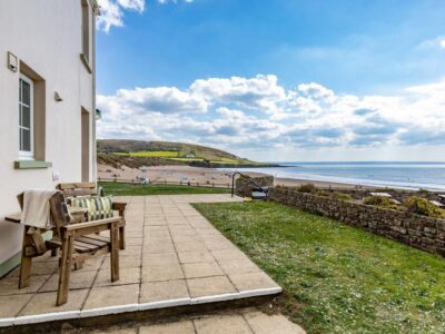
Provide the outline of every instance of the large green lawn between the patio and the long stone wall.
{"type": "Polygon", "coordinates": [[[445,259],[276,203],[196,204],[308,333],[445,333],[445,259]]]}

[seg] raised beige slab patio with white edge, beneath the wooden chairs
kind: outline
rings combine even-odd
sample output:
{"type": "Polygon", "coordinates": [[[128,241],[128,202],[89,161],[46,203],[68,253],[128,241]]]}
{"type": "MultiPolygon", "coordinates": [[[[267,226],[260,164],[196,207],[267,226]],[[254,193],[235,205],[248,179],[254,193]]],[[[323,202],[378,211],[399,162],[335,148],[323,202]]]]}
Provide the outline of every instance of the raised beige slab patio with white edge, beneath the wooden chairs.
{"type": "Polygon", "coordinates": [[[229,195],[121,197],[127,248],[120,279],[109,257],[71,273],[68,303],[56,306],[58,258],[36,258],[29,287],[19,269],[0,279],[0,326],[273,295],[281,288],[226,239],[190,203],[240,202],[229,195]]]}

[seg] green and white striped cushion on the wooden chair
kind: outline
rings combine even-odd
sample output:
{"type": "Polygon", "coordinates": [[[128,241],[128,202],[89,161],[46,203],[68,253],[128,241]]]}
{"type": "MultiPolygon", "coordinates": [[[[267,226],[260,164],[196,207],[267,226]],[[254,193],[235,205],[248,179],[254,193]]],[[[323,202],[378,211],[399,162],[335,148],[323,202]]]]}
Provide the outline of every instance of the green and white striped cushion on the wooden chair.
{"type": "Polygon", "coordinates": [[[112,196],[87,196],[69,198],[72,207],[87,208],[87,220],[98,220],[112,217],[112,196]]]}

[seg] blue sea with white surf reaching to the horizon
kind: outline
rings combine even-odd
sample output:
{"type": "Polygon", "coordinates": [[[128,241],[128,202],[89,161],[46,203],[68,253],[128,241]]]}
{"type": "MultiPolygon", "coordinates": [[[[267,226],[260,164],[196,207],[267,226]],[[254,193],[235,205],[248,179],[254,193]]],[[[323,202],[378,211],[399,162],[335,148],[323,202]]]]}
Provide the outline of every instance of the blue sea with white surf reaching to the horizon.
{"type": "MultiPolygon", "coordinates": [[[[405,189],[445,190],[445,161],[274,163],[281,167],[239,168],[279,178],[333,181],[405,189]]],[[[227,169],[226,169],[227,170],[227,169]]],[[[230,168],[230,170],[235,170],[230,168]]]]}

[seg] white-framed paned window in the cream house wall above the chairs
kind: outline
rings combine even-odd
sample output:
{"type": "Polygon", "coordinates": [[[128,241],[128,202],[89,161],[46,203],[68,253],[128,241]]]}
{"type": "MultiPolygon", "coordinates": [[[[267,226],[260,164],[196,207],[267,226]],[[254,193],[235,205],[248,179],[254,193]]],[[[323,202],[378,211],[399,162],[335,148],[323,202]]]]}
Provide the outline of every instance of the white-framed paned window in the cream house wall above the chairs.
{"type": "Polygon", "coordinates": [[[21,75],[19,84],[19,156],[33,158],[33,81],[21,75]]]}

